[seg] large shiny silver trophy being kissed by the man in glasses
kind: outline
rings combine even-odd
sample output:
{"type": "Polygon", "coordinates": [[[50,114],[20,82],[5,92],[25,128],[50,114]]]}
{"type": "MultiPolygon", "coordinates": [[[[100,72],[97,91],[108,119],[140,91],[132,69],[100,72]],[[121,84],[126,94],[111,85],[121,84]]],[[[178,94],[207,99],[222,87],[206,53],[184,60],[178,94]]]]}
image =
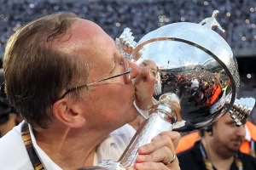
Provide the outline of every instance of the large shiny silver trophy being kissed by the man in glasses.
{"type": "MultiPolygon", "coordinates": [[[[230,46],[217,32],[214,11],[200,24],[181,22],[162,26],[149,32],[139,42],[126,28],[116,39],[125,58],[141,65],[153,61],[158,71],[154,84],[154,104],[148,111],[138,111],[146,118],[131,139],[119,161],[100,161],[88,169],[126,169],[136,163],[137,150],[164,131],[187,132],[206,127],[230,111],[240,86],[236,59],[230,46]],[[170,103],[181,106],[178,113],[170,103]]],[[[237,125],[245,122],[255,100],[236,100],[230,111],[237,125]],[[242,103],[242,105],[241,105],[242,103]],[[250,105],[247,105],[250,103],[250,105]]],[[[86,169],[86,168],[85,168],[86,169]]]]}

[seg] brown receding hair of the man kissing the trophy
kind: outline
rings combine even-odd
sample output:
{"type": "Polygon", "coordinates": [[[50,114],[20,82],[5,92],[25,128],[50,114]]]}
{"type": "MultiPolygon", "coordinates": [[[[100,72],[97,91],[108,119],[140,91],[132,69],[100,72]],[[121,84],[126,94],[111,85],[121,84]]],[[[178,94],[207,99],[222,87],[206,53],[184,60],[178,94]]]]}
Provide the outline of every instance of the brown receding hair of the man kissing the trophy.
{"type": "Polygon", "coordinates": [[[9,38],[3,57],[6,94],[32,127],[49,127],[52,105],[81,77],[81,59],[50,46],[77,19],[72,13],[51,14],[28,23],[9,38]]]}

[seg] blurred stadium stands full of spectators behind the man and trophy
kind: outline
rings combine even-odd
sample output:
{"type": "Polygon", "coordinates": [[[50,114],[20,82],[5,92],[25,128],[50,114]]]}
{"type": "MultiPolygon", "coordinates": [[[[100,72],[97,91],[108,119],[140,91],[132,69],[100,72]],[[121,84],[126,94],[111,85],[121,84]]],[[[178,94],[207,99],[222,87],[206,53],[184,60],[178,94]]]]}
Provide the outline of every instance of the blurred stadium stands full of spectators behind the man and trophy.
{"type": "MultiPolygon", "coordinates": [[[[256,99],[256,0],[0,0],[0,59],[8,38],[20,26],[46,14],[73,12],[96,22],[113,38],[130,27],[138,41],[160,26],[199,23],[215,9],[220,12],[218,21],[225,30],[222,37],[230,44],[239,65],[238,98],[256,99]]],[[[250,120],[256,124],[255,109],[250,120]]]]}

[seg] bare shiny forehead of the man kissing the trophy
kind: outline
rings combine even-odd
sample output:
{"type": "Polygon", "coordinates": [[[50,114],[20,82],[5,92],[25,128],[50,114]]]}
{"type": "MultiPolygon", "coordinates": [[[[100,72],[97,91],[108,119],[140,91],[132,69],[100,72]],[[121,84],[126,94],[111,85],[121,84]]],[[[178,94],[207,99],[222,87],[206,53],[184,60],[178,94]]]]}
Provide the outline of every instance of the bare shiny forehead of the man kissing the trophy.
{"type": "Polygon", "coordinates": [[[102,77],[113,66],[113,54],[117,52],[113,39],[100,26],[90,20],[76,20],[67,34],[55,43],[55,49],[68,56],[79,57],[90,65],[89,79],[102,77]]]}

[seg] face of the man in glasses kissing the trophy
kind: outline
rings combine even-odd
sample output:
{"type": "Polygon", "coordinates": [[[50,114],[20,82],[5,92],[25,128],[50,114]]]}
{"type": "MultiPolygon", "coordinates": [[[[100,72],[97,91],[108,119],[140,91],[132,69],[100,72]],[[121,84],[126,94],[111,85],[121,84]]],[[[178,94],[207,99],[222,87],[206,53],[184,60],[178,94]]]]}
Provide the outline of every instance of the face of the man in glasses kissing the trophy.
{"type": "MultiPolygon", "coordinates": [[[[88,80],[78,86],[125,72],[124,60],[113,39],[99,26],[88,20],[78,20],[73,23],[71,31],[72,37],[67,41],[66,50],[90,62],[88,80]]],[[[130,66],[131,77],[136,77],[136,65],[131,63],[130,66]]],[[[85,94],[84,99],[78,102],[90,128],[111,130],[137,117],[133,106],[135,89],[126,75],[92,85],[88,91],[83,88],[79,93],[85,94]]]]}

